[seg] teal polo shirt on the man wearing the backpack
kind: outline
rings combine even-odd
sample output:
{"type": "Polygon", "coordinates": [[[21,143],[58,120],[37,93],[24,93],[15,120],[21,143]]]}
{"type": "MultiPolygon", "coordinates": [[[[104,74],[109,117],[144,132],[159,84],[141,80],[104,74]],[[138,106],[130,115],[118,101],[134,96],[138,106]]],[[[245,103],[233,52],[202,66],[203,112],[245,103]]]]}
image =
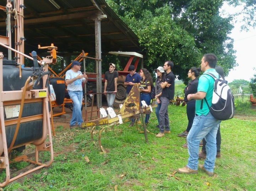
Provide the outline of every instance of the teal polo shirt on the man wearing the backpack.
{"type": "MultiPolygon", "coordinates": [[[[205,73],[211,73],[217,78],[219,78],[219,74],[216,72],[215,69],[208,69],[204,72],[205,73]]],[[[214,79],[212,76],[209,75],[201,75],[199,80],[198,80],[198,87],[197,87],[197,92],[205,92],[206,93],[206,100],[211,107],[212,105],[212,93],[213,93],[213,87],[214,86],[214,79]]],[[[196,114],[197,115],[207,115],[208,112],[210,111],[205,100],[203,99],[203,108],[201,108],[201,102],[202,100],[196,100],[196,114]]]]}

